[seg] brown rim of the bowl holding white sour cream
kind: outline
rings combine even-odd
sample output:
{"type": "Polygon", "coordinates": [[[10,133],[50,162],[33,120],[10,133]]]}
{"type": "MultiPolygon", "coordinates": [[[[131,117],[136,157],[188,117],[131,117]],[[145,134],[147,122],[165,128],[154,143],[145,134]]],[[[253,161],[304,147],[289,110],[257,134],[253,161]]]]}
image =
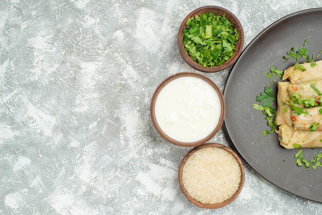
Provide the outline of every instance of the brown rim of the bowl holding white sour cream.
{"type": "Polygon", "coordinates": [[[223,121],[224,121],[224,116],[225,116],[225,100],[223,97],[223,94],[220,90],[220,88],[217,86],[216,83],[214,83],[213,81],[211,81],[209,78],[207,78],[206,76],[203,76],[201,74],[198,73],[191,73],[188,71],[185,71],[183,73],[177,73],[174,74],[170,77],[168,77],[166,80],[164,80],[162,83],[160,83],[160,85],[156,88],[153,96],[152,96],[152,100],[151,100],[151,107],[150,107],[150,113],[151,113],[151,119],[152,119],[152,123],[155,127],[155,129],[157,130],[157,132],[166,140],[168,140],[169,142],[172,142],[172,144],[175,144],[177,146],[183,146],[183,147],[194,147],[194,146],[199,146],[204,144],[205,142],[207,142],[208,140],[210,140],[214,135],[216,135],[216,133],[219,131],[219,129],[221,128],[223,121]],[[197,78],[201,78],[202,80],[206,81],[207,83],[209,83],[217,92],[218,96],[219,96],[219,100],[220,100],[220,106],[221,106],[221,113],[220,113],[220,118],[217,124],[217,127],[204,139],[196,141],[196,142],[180,142],[177,141],[175,139],[172,139],[171,137],[169,137],[164,131],[162,131],[162,129],[159,127],[157,121],[156,121],[156,117],[155,117],[155,101],[156,98],[159,94],[159,92],[161,91],[161,89],[170,81],[176,79],[176,78],[180,78],[180,77],[184,77],[184,76],[192,76],[192,77],[197,77],[197,78]]]}

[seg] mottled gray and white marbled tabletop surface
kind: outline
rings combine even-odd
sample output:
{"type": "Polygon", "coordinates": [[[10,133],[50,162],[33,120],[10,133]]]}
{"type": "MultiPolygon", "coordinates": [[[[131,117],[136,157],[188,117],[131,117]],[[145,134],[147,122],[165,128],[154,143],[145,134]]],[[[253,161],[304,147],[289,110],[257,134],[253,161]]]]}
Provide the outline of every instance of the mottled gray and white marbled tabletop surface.
{"type": "MultiPolygon", "coordinates": [[[[150,99],[166,77],[194,71],[176,33],[205,5],[236,14],[246,46],[322,2],[0,0],[0,214],[322,213],[246,164],[244,188],[224,208],[196,207],[181,192],[189,148],[158,135],[150,99]]],[[[206,76],[223,89],[230,70],[206,76]]],[[[223,131],[212,141],[232,147],[223,131]]]]}

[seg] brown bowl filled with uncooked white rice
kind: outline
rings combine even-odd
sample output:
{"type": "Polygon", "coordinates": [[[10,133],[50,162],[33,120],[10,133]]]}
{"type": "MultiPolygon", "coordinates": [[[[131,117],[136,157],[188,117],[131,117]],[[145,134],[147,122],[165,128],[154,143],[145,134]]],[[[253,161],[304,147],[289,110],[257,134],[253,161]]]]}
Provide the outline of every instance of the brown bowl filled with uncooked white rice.
{"type": "Polygon", "coordinates": [[[240,157],[221,144],[204,144],[191,149],[179,169],[179,184],[193,204],[220,208],[234,201],[245,181],[240,157]]]}

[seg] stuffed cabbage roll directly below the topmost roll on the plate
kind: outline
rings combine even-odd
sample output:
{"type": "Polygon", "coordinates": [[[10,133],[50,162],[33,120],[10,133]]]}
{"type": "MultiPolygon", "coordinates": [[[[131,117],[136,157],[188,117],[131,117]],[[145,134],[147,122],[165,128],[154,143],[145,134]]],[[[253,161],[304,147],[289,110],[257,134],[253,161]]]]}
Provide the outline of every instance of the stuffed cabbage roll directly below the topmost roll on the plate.
{"type": "Polygon", "coordinates": [[[322,92],[322,80],[290,84],[288,90],[290,98],[296,94],[302,100],[309,100],[313,97],[319,97],[318,92],[322,92]]]}

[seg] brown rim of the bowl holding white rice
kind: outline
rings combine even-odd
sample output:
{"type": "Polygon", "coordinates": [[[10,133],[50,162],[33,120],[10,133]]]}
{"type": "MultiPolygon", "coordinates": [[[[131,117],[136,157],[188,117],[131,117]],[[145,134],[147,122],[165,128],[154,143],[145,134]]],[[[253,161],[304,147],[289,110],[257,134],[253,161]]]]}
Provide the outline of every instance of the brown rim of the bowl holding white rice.
{"type": "Polygon", "coordinates": [[[194,147],[193,149],[191,149],[182,159],[181,165],[180,165],[180,169],[179,169],[179,176],[178,176],[178,180],[179,180],[179,184],[180,187],[182,189],[182,192],[185,194],[186,198],[192,202],[193,204],[195,204],[196,206],[199,207],[203,207],[203,208],[208,208],[208,209],[216,209],[216,208],[220,208],[220,207],[224,207],[228,204],[230,204],[232,201],[234,201],[237,196],[239,195],[239,193],[241,192],[243,186],[244,186],[244,182],[245,182],[245,170],[244,170],[244,165],[240,159],[240,157],[236,154],[236,152],[234,152],[232,149],[221,145],[221,144],[214,144],[212,142],[208,143],[208,144],[204,144],[202,146],[198,146],[198,147],[194,147]],[[207,147],[217,147],[217,148],[221,148],[226,150],[227,152],[229,152],[232,156],[235,157],[235,159],[237,160],[239,167],[240,167],[240,172],[241,172],[241,179],[240,179],[240,183],[239,183],[239,187],[237,189],[237,191],[234,193],[234,195],[232,195],[229,199],[221,202],[221,203],[217,203],[217,204],[204,204],[201,203],[199,201],[196,201],[195,199],[193,199],[189,193],[187,192],[184,184],[183,184],[183,180],[182,180],[182,172],[183,172],[183,168],[188,160],[188,158],[196,151],[198,151],[199,149],[203,149],[203,148],[207,148],[207,147]]]}

